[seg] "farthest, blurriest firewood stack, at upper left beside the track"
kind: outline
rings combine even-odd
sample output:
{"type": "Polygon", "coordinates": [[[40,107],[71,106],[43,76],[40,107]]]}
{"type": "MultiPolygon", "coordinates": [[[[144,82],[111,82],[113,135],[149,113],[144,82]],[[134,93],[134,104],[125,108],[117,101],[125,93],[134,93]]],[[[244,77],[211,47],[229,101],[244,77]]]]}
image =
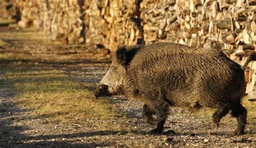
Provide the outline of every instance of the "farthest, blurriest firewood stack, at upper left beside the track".
{"type": "Polygon", "coordinates": [[[17,1],[21,11],[19,27],[31,24],[49,34],[52,40],[63,43],[83,43],[84,39],[84,1],[17,1]]]}

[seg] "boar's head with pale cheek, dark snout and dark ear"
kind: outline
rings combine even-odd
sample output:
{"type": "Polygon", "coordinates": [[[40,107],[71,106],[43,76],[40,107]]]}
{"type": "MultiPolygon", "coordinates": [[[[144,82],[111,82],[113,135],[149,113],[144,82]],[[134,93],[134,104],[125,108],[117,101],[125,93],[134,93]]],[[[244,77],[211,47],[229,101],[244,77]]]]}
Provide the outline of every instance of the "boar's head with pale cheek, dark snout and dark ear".
{"type": "Polygon", "coordinates": [[[112,55],[112,64],[109,71],[99,82],[93,91],[95,97],[112,96],[123,94],[123,84],[126,77],[127,67],[130,61],[137,53],[139,46],[126,47],[122,46],[112,55]]]}

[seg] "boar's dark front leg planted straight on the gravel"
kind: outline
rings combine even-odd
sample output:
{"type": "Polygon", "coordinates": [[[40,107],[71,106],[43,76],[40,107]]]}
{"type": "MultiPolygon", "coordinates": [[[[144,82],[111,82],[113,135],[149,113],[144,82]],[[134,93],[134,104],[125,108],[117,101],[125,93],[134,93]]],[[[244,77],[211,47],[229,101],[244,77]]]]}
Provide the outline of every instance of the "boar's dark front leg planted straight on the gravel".
{"type": "Polygon", "coordinates": [[[164,129],[164,123],[168,116],[168,106],[165,103],[158,104],[154,107],[154,111],[157,115],[157,128],[150,131],[150,133],[162,133],[164,129]]]}

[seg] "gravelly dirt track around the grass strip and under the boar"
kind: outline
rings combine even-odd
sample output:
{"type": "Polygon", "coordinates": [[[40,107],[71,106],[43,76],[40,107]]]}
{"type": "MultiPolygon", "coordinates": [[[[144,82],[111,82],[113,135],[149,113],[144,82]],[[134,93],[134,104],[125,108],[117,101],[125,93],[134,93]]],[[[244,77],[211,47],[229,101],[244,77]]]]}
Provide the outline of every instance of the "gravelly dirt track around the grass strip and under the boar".
{"type": "MultiPolygon", "coordinates": [[[[19,92],[6,83],[9,82],[8,75],[11,72],[6,70],[10,68],[9,66],[18,64],[14,67],[18,69],[32,65],[33,69],[46,67],[51,71],[61,71],[72,77],[73,81],[79,82],[83,88],[91,91],[107,71],[110,62],[101,55],[92,53],[93,47],[51,44],[43,33],[36,30],[22,31],[0,27],[0,39],[9,44],[0,46],[0,58],[3,55],[12,57],[0,61],[0,81],[3,80],[0,83],[0,147],[204,145],[226,147],[256,144],[255,116],[248,118],[245,135],[232,136],[230,132],[235,129],[235,119],[227,115],[221,121],[220,128],[215,129],[211,124],[212,110],[208,111],[208,109],[190,114],[184,109],[173,108],[165,124],[164,134],[149,135],[146,131],[154,127],[147,125],[140,115],[143,104],[122,97],[106,99],[114,109],[125,112],[123,117],[88,119],[73,117],[69,122],[60,122],[54,117],[35,116],[34,112],[37,108],[19,105],[22,103],[17,100],[19,92]]],[[[16,80],[12,81],[16,82],[16,80]]],[[[255,108],[255,103],[253,107],[255,108]]],[[[248,109],[248,112],[255,113],[255,110],[248,109]]]]}

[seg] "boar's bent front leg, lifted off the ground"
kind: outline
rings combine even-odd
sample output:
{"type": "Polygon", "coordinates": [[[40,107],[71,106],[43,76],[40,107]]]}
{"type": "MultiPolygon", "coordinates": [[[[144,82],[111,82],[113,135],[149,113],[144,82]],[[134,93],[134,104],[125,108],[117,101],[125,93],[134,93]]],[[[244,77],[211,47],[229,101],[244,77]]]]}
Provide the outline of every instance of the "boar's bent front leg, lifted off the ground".
{"type": "Polygon", "coordinates": [[[146,120],[147,123],[151,125],[157,125],[157,119],[153,118],[153,114],[155,114],[154,110],[149,107],[149,105],[143,105],[142,116],[146,120]]]}

